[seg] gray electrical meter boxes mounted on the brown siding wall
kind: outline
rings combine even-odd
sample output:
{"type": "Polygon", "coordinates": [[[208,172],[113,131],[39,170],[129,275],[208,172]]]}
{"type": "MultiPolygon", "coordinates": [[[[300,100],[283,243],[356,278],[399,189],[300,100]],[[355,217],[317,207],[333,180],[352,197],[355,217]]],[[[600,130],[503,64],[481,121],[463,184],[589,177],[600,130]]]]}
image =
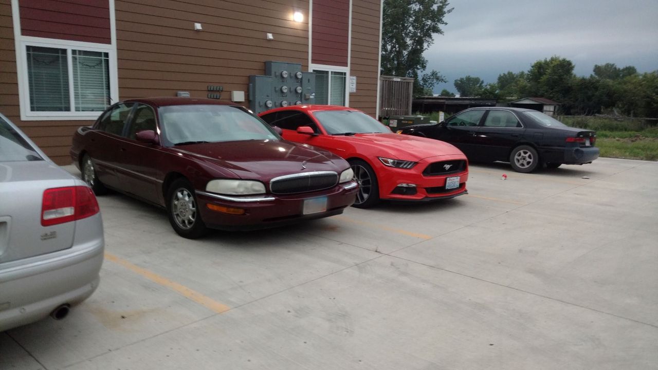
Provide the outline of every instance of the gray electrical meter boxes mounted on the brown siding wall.
{"type": "Polygon", "coordinates": [[[266,61],[265,75],[249,76],[249,108],[254,113],[315,100],[315,73],[302,72],[301,64],[266,61]]]}

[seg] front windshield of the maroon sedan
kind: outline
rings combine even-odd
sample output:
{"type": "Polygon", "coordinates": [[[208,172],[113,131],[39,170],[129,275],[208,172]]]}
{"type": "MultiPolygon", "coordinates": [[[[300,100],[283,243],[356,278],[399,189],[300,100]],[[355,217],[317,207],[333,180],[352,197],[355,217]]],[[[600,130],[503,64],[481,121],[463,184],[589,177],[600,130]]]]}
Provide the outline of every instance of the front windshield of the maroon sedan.
{"type": "Polygon", "coordinates": [[[230,105],[169,105],[160,108],[160,120],[171,145],[280,140],[265,122],[230,105]]]}

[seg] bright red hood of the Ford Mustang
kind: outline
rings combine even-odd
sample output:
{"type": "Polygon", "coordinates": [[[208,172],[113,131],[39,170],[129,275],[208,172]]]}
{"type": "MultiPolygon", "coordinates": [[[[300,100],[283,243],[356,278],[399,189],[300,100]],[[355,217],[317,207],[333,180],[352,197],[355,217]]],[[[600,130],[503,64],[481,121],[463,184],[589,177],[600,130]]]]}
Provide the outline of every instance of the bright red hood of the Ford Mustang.
{"type": "MultiPolygon", "coordinates": [[[[389,155],[405,161],[420,161],[438,155],[464,155],[461,150],[440,140],[419,138],[418,136],[399,134],[356,134],[355,136],[336,136],[357,147],[374,145],[382,150],[383,155],[389,155]]],[[[379,154],[378,154],[379,155],[379,154]]]]}

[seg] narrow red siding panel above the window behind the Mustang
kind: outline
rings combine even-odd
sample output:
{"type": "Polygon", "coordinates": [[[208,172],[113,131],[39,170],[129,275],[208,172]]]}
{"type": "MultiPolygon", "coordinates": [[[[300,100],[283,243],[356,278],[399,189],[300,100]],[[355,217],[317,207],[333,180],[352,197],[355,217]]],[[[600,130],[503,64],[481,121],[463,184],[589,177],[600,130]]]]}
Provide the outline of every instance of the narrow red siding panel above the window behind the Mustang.
{"type": "Polygon", "coordinates": [[[349,0],[313,1],[312,62],[347,66],[349,0]]]}

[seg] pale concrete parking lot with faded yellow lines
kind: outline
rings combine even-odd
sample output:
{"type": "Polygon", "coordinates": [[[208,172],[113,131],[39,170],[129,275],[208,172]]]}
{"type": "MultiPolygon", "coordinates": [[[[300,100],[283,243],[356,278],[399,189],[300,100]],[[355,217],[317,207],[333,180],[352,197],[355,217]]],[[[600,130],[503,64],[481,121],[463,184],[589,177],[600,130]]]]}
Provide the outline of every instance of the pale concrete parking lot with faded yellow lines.
{"type": "Polygon", "coordinates": [[[0,333],[0,369],[658,368],[658,163],[468,189],[203,240],[101,196],[101,285],[0,333]]]}

